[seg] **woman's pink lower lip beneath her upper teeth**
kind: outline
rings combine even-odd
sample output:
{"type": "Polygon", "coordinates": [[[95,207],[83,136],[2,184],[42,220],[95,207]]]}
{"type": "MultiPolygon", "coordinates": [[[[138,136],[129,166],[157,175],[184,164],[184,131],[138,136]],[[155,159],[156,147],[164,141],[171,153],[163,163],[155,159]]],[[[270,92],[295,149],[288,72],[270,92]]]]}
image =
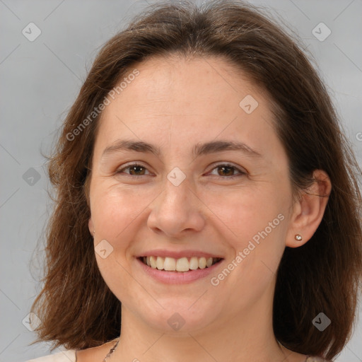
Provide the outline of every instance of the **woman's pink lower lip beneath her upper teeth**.
{"type": "Polygon", "coordinates": [[[205,278],[209,276],[220,264],[223,262],[221,259],[219,262],[211,265],[209,268],[204,269],[195,269],[189,271],[165,271],[165,270],[158,270],[148,267],[148,265],[141,262],[140,259],[136,258],[136,262],[141,265],[141,268],[149,275],[152,276],[154,279],[161,281],[165,284],[188,284],[192,283],[192,281],[196,281],[198,279],[205,278]]]}

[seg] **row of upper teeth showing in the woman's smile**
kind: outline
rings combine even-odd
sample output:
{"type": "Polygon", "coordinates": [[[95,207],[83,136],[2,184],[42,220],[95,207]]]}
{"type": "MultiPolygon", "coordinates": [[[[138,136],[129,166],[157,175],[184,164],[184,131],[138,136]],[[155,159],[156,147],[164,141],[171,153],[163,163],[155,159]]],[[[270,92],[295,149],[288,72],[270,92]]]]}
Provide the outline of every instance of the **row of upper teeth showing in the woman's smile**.
{"type": "Polygon", "coordinates": [[[167,270],[167,271],[189,271],[195,269],[205,269],[211,267],[220,260],[219,258],[209,257],[182,257],[180,259],[175,259],[173,257],[143,257],[141,258],[144,264],[147,264],[148,267],[158,270],[167,270]]]}

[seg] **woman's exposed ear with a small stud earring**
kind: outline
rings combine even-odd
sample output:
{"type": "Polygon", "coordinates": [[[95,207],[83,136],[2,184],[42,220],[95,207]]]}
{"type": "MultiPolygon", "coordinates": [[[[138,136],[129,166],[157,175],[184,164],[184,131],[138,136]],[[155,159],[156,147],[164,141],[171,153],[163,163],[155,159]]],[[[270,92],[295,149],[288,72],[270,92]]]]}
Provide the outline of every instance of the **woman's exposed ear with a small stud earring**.
{"type": "Polygon", "coordinates": [[[300,198],[293,205],[293,214],[286,235],[286,246],[300,247],[312,238],[317,230],[327,206],[332,184],[323,170],[313,172],[314,182],[303,190],[300,198]],[[296,234],[302,239],[296,240],[296,234]]]}

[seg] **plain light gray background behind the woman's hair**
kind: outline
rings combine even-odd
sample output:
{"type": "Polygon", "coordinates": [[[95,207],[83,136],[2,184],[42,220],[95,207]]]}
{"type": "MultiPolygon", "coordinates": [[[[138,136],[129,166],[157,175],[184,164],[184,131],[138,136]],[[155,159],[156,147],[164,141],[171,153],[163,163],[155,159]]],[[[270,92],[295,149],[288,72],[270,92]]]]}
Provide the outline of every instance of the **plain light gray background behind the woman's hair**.
{"type": "MultiPolygon", "coordinates": [[[[345,132],[361,155],[362,1],[251,2],[271,8],[303,39],[330,89],[345,132]],[[322,42],[312,33],[320,22],[332,31],[322,42]]],[[[35,334],[22,323],[40,291],[36,280],[41,269],[36,262],[30,265],[30,259],[37,255],[41,263],[43,255],[35,247],[43,239],[50,210],[41,152],[49,152],[100,46],[145,5],[146,1],[129,0],[0,0],[0,361],[49,354],[49,344],[28,346],[35,334]],[[22,33],[30,22],[42,32],[33,42],[22,33]]],[[[336,361],[362,361],[361,341],[359,317],[351,341],[336,361]]],[[[59,350],[63,349],[54,353],[59,350]]]]}

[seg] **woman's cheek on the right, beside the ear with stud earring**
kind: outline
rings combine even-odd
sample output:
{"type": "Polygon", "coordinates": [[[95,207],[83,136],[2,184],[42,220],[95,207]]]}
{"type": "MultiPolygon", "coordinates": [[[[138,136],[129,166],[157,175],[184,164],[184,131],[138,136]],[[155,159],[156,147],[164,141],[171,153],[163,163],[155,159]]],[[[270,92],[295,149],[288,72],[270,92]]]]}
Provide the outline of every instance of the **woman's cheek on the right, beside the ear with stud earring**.
{"type": "Polygon", "coordinates": [[[286,197],[271,187],[208,196],[208,206],[224,230],[222,238],[233,252],[228,269],[235,269],[233,283],[238,286],[259,288],[276,272],[285,247],[286,197]]]}

